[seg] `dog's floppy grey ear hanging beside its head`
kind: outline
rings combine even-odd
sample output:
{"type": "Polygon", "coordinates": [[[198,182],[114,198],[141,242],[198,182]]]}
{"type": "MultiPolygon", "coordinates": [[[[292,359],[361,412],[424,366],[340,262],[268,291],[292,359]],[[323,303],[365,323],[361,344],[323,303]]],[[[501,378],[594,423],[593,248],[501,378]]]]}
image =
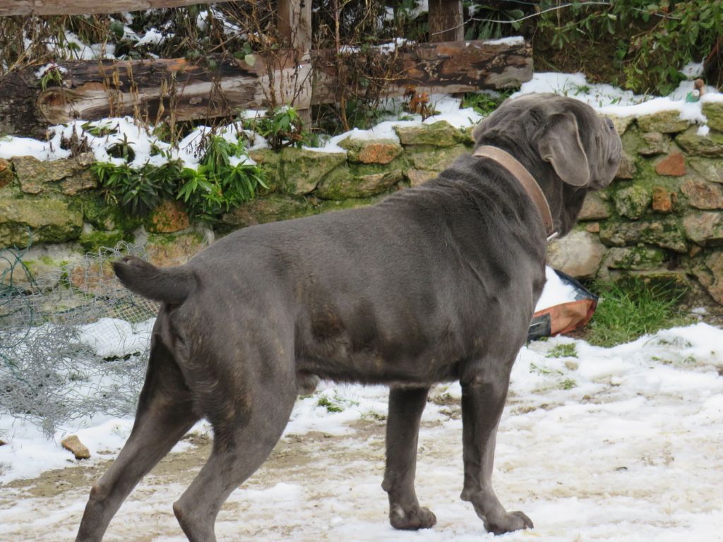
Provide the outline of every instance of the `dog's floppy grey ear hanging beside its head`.
{"type": "Polygon", "coordinates": [[[537,139],[542,160],[552,164],[562,181],[572,186],[590,182],[590,167],[578,132],[578,121],[572,113],[549,116],[544,131],[537,139]]]}

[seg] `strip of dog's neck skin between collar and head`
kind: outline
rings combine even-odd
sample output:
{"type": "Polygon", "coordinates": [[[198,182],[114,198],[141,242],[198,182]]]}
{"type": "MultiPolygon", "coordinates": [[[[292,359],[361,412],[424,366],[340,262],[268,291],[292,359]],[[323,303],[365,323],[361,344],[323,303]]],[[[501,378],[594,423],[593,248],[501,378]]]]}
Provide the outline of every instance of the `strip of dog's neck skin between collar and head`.
{"type": "Polygon", "coordinates": [[[476,142],[475,148],[482,145],[492,145],[506,150],[525,166],[531,173],[537,184],[539,184],[549,205],[552,214],[552,222],[555,231],[560,237],[567,235],[576,225],[578,214],[583,206],[583,201],[589,190],[587,186],[570,186],[563,183],[552,165],[542,160],[539,154],[532,148],[515,144],[514,140],[505,137],[504,134],[496,133],[482,134],[476,142]]]}

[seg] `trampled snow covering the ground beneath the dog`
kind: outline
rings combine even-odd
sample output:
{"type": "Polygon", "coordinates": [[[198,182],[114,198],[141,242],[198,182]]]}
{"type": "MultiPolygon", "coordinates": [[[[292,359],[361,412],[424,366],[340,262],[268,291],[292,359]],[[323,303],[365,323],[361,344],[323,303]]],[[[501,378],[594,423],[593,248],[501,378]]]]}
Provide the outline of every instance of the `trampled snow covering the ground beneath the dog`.
{"type": "MultiPolygon", "coordinates": [[[[560,285],[552,288],[565,294],[560,285]]],[[[126,348],[128,337],[115,322],[86,331],[106,336],[109,328],[119,343],[113,351],[126,348]]],[[[110,351],[111,343],[95,345],[110,351]]],[[[721,345],[723,330],[698,323],[615,348],[569,337],[523,348],[500,424],[495,486],[508,509],[523,509],[536,528],[505,540],[722,540],[721,345]],[[573,345],[573,352],[568,347],[560,357],[559,345],[573,345]]],[[[380,489],[387,394],[384,387],[322,382],[315,394],[299,398],[267,465],[229,499],[218,520],[219,538],[492,539],[471,506],[458,499],[458,384],[433,390],[419,442],[417,491],[439,523],[419,533],[389,527],[380,489]]],[[[87,423],[48,442],[27,423],[0,418],[0,437],[8,442],[0,446],[0,525],[7,536],[72,538],[90,484],[108,468],[132,419],[98,416],[87,423]],[[90,460],[71,460],[59,447],[69,432],[87,445],[90,460]]],[[[209,430],[200,423],[192,432],[209,430]]],[[[171,502],[207,453],[208,446],[176,446],[121,508],[107,539],[184,540],[171,502]]]]}

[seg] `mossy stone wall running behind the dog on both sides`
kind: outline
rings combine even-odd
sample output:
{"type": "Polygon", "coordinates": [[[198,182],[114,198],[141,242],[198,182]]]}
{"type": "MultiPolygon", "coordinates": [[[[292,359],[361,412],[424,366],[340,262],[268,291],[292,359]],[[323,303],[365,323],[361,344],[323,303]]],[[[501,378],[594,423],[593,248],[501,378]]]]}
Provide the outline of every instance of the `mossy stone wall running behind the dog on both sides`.
{"type": "MultiPolygon", "coordinates": [[[[723,304],[723,103],[703,113],[704,135],[675,111],[614,119],[625,149],[617,178],[590,194],[576,230],[550,245],[549,262],[583,279],[673,281],[723,304]]],[[[32,232],[25,262],[38,276],[118,241],[176,264],[237,228],[369,205],[427,181],[472,147],[471,130],[443,121],[396,131],[398,141],[346,139],[346,152],[252,152],[270,189],[213,229],[191,225],[177,202],[145,218],[124,215],[98,190],[88,155],[0,160],[0,248],[25,246],[32,232]]]]}

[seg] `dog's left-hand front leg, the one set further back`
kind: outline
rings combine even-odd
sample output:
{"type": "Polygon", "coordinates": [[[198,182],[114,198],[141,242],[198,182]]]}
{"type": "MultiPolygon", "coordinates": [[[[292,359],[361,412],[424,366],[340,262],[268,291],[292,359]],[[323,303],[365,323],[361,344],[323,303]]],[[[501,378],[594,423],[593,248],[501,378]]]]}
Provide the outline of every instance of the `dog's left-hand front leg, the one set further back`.
{"type": "Polygon", "coordinates": [[[437,522],[420,507],[414,491],[419,420],[429,388],[392,387],[387,418],[387,465],[382,489],[389,494],[389,522],[395,529],[426,529],[437,522]]]}

